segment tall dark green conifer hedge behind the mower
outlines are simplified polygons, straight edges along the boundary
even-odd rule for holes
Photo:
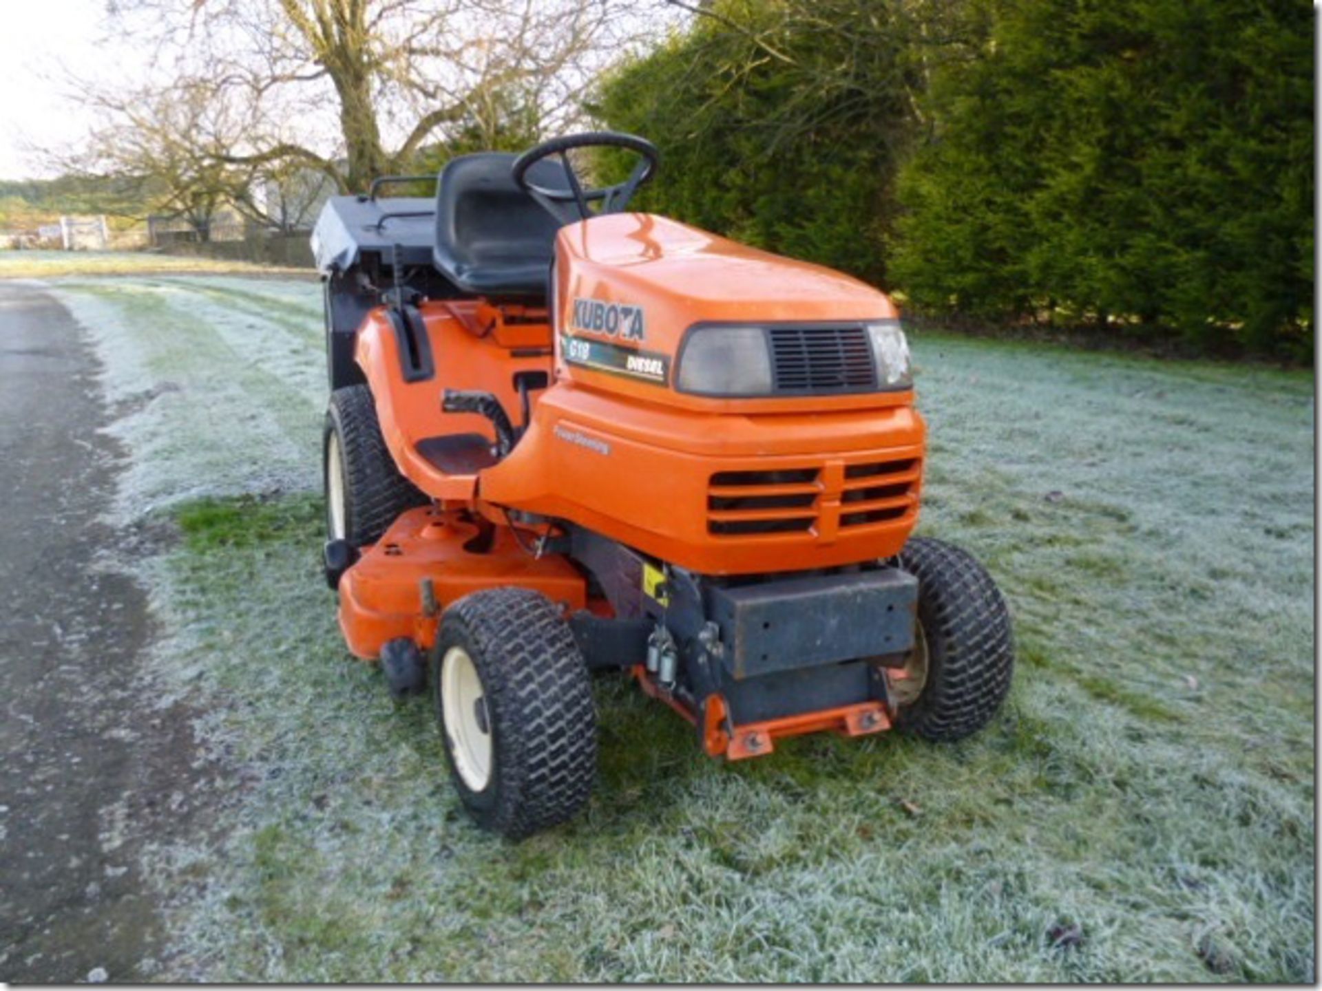
[[[648,209],[911,308],[1313,350],[1307,0],[715,0],[594,110]]]

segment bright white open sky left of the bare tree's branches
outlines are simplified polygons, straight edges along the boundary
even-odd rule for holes
[[[104,13],[106,0],[0,0],[0,178],[49,174],[26,147],[87,132],[90,115],[61,95],[63,71],[110,78],[136,54],[97,44]]]

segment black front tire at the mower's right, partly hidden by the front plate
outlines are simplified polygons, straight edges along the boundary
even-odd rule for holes
[[[919,581],[928,667],[921,694],[898,723],[924,740],[962,740],[992,720],[1010,691],[1010,612],[992,576],[958,547],[916,536],[904,544],[900,567]]]

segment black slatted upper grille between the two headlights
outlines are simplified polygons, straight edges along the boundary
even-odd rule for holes
[[[866,392],[876,387],[873,346],[862,326],[773,326],[777,392]]]

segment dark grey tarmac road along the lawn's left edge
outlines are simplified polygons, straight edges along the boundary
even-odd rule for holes
[[[152,629],[123,566],[151,535],[100,519],[124,459],[97,373],[38,283],[0,281],[5,982],[151,978],[161,925],[139,855],[202,822],[208,794],[186,710],[139,680]]]

